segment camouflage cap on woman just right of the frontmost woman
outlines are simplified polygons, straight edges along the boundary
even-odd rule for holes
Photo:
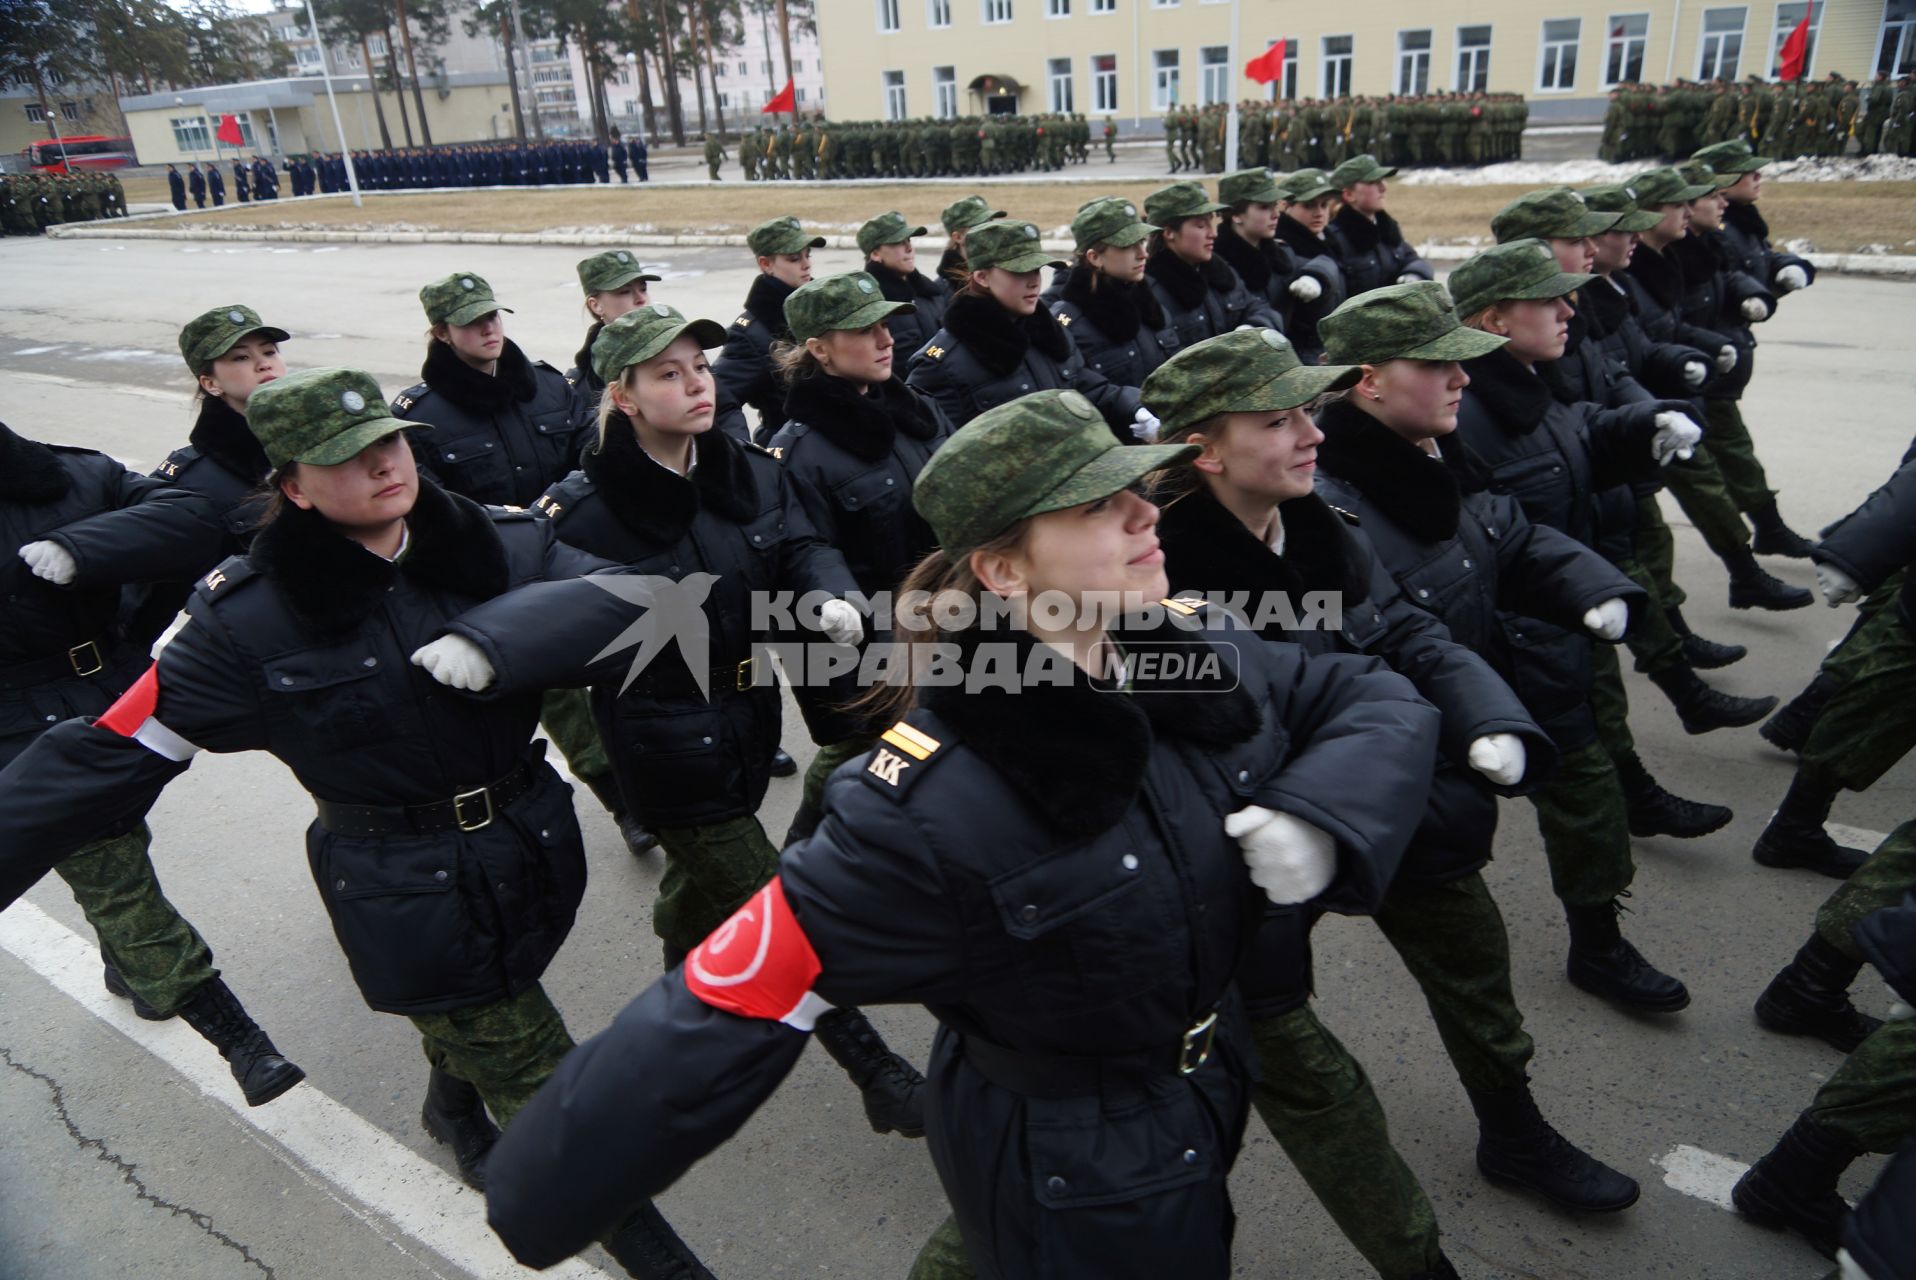
[[[1276,330],[1234,330],[1176,353],[1144,379],[1144,406],[1165,435],[1217,414],[1261,414],[1309,404],[1353,385],[1349,364],[1305,364]]]

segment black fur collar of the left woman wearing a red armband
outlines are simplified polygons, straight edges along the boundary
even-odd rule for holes
[[[305,625],[328,636],[370,617],[400,573],[469,600],[490,600],[510,584],[506,546],[492,517],[423,475],[399,563],[374,556],[318,512],[291,504],[259,531],[247,558]]]

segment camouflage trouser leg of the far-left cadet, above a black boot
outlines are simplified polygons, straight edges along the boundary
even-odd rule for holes
[[[220,975],[199,931],[159,889],[142,822],[125,835],[100,839],[63,858],[54,872],[73,889],[100,954],[155,1012],[172,1016],[201,985]]]

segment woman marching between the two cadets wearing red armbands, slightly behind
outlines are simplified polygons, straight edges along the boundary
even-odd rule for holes
[[[791,477],[766,450],[711,429],[705,349],[722,341],[711,320],[663,303],[605,326],[592,343],[605,379],[598,445],[535,508],[565,542],[680,583],[686,607],[703,611],[705,665],[661,653],[623,684],[592,690],[619,789],[665,849],[651,927],[667,968],[778,866],[757,816],[780,696],[755,648],[772,638],[755,596],[826,592],[832,642],[864,634],[843,600],[856,590],[845,558],[818,538]],[[924,1132],[918,1073],[856,1010],[826,1019],[820,1040],[858,1085],[878,1132]]]

